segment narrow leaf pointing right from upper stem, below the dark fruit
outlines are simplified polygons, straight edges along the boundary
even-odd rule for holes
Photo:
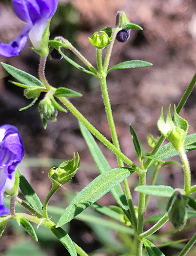
[[[141,67],[150,67],[152,65],[153,65],[152,63],[143,61],[143,60],[128,60],[128,61],[121,62],[116,66],[112,67],[111,69],[108,70],[107,74],[116,69],[141,68]]]

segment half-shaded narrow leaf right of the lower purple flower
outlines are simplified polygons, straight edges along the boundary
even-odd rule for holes
[[[19,178],[20,178],[20,189],[24,197],[26,198],[27,202],[29,205],[36,211],[38,212],[41,216],[43,216],[43,211],[42,211],[42,203],[29,184],[29,182],[26,180],[26,178],[22,175],[20,170],[18,169],[19,172]]]

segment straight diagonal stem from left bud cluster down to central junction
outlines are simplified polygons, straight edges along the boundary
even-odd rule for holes
[[[119,151],[107,138],[105,138],[99,131],[78,111],[78,109],[65,97],[59,97],[59,100],[69,109],[69,111],[80,121],[86,128],[98,138],[108,149],[115,155],[121,158],[126,164],[137,170],[138,166],[127,158],[121,151]]]

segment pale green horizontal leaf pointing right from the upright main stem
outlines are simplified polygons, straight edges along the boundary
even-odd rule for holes
[[[135,191],[157,197],[171,197],[174,194],[174,189],[172,187],[163,185],[137,186]]]

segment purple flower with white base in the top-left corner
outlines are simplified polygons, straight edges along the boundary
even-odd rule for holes
[[[0,55],[4,57],[18,56],[28,35],[34,48],[40,49],[43,33],[57,10],[58,0],[12,0],[12,4],[16,15],[26,24],[16,39],[9,43],[0,42]]]

